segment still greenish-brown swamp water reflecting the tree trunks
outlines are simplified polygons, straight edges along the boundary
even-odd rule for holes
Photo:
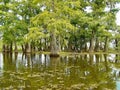
[[[0,53],[0,90],[120,90],[120,55]]]

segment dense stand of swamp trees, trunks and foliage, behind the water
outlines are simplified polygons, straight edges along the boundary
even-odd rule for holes
[[[3,52],[120,51],[120,0],[0,0]]]

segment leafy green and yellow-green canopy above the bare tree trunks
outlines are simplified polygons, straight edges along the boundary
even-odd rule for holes
[[[119,39],[115,7],[119,0],[3,0],[0,4],[0,33],[10,44],[37,43],[55,36],[56,45],[79,48],[90,39]],[[109,11],[105,11],[105,8]],[[91,12],[86,9],[90,8]],[[112,35],[109,30],[115,33]],[[117,32],[117,33],[116,33]],[[45,46],[45,45],[44,45]]]

